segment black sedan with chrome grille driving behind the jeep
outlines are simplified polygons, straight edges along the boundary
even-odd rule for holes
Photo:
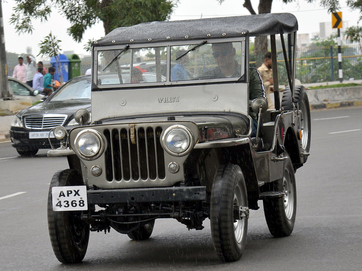
[[[51,149],[49,138],[54,147],[59,147],[51,130],[63,125],[69,132],[79,125],[74,113],[80,108],[90,111],[90,76],[73,78],[44,102],[18,112],[10,128],[11,145],[23,156]]]

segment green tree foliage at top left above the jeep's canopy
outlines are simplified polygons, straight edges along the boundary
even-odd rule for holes
[[[76,42],[85,30],[101,21],[105,34],[117,27],[142,22],[169,20],[177,1],[173,0],[15,0],[10,18],[18,33],[31,33],[32,20],[48,20],[51,12],[59,12],[71,23],[67,33]]]

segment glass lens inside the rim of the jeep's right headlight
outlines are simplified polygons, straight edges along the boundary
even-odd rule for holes
[[[165,143],[169,151],[180,154],[190,146],[190,136],[184,129],[173,129],[166,135]]]

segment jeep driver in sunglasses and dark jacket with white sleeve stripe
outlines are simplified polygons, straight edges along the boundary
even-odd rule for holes
[[[235,60],[235,55],[236,50],[231,42],[212,44],[212,56],[218,65],[213,70],[216,78],[240,77],[241,66]],[[266,98],[265,87],[259,71],[255,68],[249,68],[249,106],[251,106],[252,100],[258,97]],[[250,116],[253,120],[253,132],[251,136],[255,137],[257,115],[254,112],[250,112]]]

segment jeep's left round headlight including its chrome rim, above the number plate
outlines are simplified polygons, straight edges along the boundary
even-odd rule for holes
[[[102,155],[105,141],[102,135],[93,129],[80,132],[75,138],[75,152],[85,160],[94,160]]]

